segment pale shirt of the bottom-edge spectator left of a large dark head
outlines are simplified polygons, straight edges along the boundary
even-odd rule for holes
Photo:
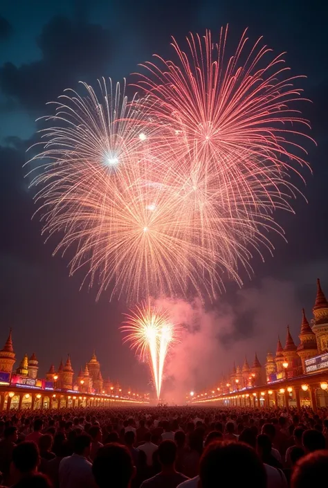
[[[60,462],[60,488],[95,488],[92,464],[84,456],[72,454]]]

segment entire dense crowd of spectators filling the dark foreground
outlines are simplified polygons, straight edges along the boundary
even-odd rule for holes
[[[314,488],[327,478],[327,447],[327,409],[10,410],[0,485]]]

